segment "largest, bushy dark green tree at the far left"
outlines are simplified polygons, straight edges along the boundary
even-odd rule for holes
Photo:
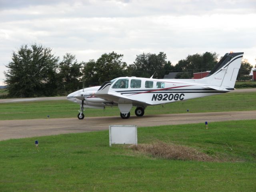
[[[12,53],[12,62],[4,72],[11,97],[52,96],[56,94],[58,57],[50,48],[22,45]]]

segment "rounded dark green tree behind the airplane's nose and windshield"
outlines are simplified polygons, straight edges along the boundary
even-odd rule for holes
[[[105,81],[120,76],[127,76],[127,64],[122,61],[122,54],[104,53],[98,60],[89,60],[83,69],[83,80],[86,86],[101,85]]]

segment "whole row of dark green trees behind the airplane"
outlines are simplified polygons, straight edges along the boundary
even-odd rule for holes
[[[56,96],[83,87],[101,85],[120,76],[163,78],[169,72],[180,72],[176,78],[192,78],[193,72],[211,70],[218,63],[218,55],[210,52],[188,55],[174,66],[166,54],[143,53],[136,55],[128,65],[122,54],[104,53],[97,60],[78,62],[76,56],[66,53],[63,59],[42,45],[22,45],[12,53],[12,61],[4,72],[10,97]],[[244,62],[242,74],[249,73],[251,65]],[[241,67],[242,68],[242,67]],[[249,69],[250,68],[250,69]],[[197,71],[199,70],[199,71]],[[184,73],[185,71],[185,73]]]

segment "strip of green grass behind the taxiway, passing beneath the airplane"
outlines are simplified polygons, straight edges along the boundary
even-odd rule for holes
[[[0,120],[36,119],[36,118],[68,118],[76,117],[79,104],[67,100],[37,101],[19,103],[0,103]],[[218,112],[256,110],[256,93],[228,93],[204,98],[196,98],[165,105],[148,106],[147,114],[171,114],[189,112]],[[131,115],[135,108],[132,108]],[[105,110],[86,108],[85,115],[91,116],[119,116],[117,107],[106,107]]]

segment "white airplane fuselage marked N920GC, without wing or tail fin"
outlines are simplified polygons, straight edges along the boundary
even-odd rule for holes
[[[125,86],[120,87],[119,82],[124,80]],[[112,80],[109,92],[115,92],[141,102],[132,102],[133,106],[158,105],[169,102],[187,100],[210,96],[220,93],[229,92],[234,88],[226,91],[214,90],[212,88],[202,88],[204,84],[196,83],[197,80],[188,80],[182,82],[177,79],[152,79],[152,78],[137,78],[137,77],[120,77]],[[117,106],[118,102],[98,98],[95,93],[100,86],[84,88],[68,95],[68,100],[80,102],[84,100],[84,107],[93,106]],[[143,104],[144,103],[144,104]]]

